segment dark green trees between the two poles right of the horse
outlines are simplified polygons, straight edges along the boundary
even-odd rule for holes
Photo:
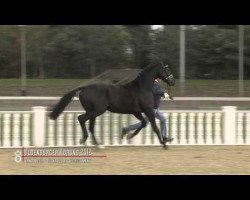
[[[187,76],[196,78],[237,78],[237,34],[207,26],[187,30]]]

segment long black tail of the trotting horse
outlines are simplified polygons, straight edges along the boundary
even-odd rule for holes
[[[76,92],[82,90],[84,87],[78,87],[74,90],[71,90],[67,94],[65,94],[60,101],[50,109],[51,113],[49,113],[49,118],[56,120],[57,117],[63,112],[66,106],[72,101],[73,97],[76,95]]]

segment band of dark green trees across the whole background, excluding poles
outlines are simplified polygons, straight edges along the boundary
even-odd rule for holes
[[[186,76],[238,78],[238,29],[186,26]],[[235,26],[235,25],[233,25]],[[179,75],[179,25],[25,26],[28,78],[89,78],[110,68],[143,68],[153,56]],[[245,79],[250,77],[250,26],[244,26]],[[0,26],[0,78],[20,77],[20,27]]]

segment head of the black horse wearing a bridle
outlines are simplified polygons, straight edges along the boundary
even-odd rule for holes
[[[158,68],[157,78],[160,78],[164,82],[166,82],[169,86],[175,85],[174,75],[172,74],[168,65],[160,65]]]

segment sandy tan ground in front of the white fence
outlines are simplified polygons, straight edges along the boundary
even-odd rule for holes
[[[15,162],[21,149],[0,149],[1,175],[250,174],[250,146],[106,147],[89,162]],[[32,158],[34,159],[34,158]],[[71,158],[72,159],[72,158]]]

